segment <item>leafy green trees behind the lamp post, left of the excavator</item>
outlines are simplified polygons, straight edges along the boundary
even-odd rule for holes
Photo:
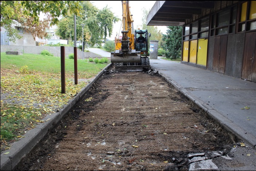
[[[82,10],[80,16],[76,17],[77,40],[82,42],[82,26],[84,25],[84,42],[94,46],[101,45],[102,39],[111,36],[113,23],[120,21],[113,15],[109,8],[102,10],[96,8],[90,1],[82,1]],[[69,14],[60,20],[56,34],[62,38],[74,40],[74,16]]]

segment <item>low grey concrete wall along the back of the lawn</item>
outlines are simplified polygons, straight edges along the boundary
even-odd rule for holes
[[[61,57],[61,46],[12,46],[12,45],[1,45],[0,52],[6,51],[21,51],[24,53],[40,54],[43,50],[47,50],[54,56]],[[69,57],[70,53],[74,53],[74,47],[65,46],[65,57]],[[82,59],[83,52],[77,49],[77,58]],[[97,58],[100,57],[98,54],[92,52],[84,52],[84,58]]]

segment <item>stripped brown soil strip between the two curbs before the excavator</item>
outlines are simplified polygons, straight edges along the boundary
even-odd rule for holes
[[[236,143],[158,74],[105,72],[18,169],[191,170]]]

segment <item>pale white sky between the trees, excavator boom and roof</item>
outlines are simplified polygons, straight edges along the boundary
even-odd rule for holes
[[[98,9],[102,9],[107,6],[116,17],[122,19],[122,3],[121,1],[90,1],[95,7]],[[133,15],[133,29],[138,29],[137,26],[142,25],[142,17],[143,17],[143,8],[150,11],[156,1],[129,1],[130,4],[130,12]],[[121,36],[121,30],[123,29],[121,26],[122,22],[114,23],[113,32],[111,37],[107,37],[110,40],[115,40],[116,33]],[[166,26],[157,26],[158,30],[162,33],[166,32]]]

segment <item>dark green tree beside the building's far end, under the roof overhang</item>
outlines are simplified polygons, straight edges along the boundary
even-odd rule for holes
[[[167,27],[167,58],[176,59],[181,57],[182,47],[182,27],[181,26],[168,26]]]

